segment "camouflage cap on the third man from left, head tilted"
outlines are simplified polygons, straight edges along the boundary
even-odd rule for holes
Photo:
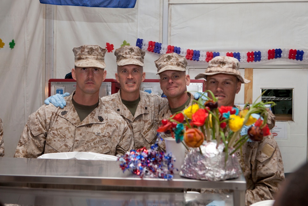
[[[154,62],[157,67],[157,74],[160,74],[167,70],[180,72],[186,71],[186,58],[177,53],[163,54]]]

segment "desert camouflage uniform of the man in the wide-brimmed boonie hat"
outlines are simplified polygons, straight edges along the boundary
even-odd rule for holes
[[[275,126],[275,115],[271,111],[267,123],[270,129]],[[246,142],[236,154],[247,182],[245,204],[274,200],[274,194],[284,181],[285,174],[281,153],[273,135],[264,137],[260,142]]]

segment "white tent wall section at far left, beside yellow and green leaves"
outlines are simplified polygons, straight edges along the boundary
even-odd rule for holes
[[[0,39],[5,43],[0,49],[0,118],[6,157],[13,157],[28,116],[42,105],[43,7],[32,0],[0,2]]]

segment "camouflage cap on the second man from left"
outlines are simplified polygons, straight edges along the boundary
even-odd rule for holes
[[[145,51],[139,47],[124,45],[115,49],[116,64],[118,66],[139,65],[144,66]]]

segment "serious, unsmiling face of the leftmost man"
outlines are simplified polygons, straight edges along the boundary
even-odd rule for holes
[[[76,80],[76,92],[83,94],[99,94],[99,88],[106,78],[107,72],[96,67],[75,67],[72,77]]]

